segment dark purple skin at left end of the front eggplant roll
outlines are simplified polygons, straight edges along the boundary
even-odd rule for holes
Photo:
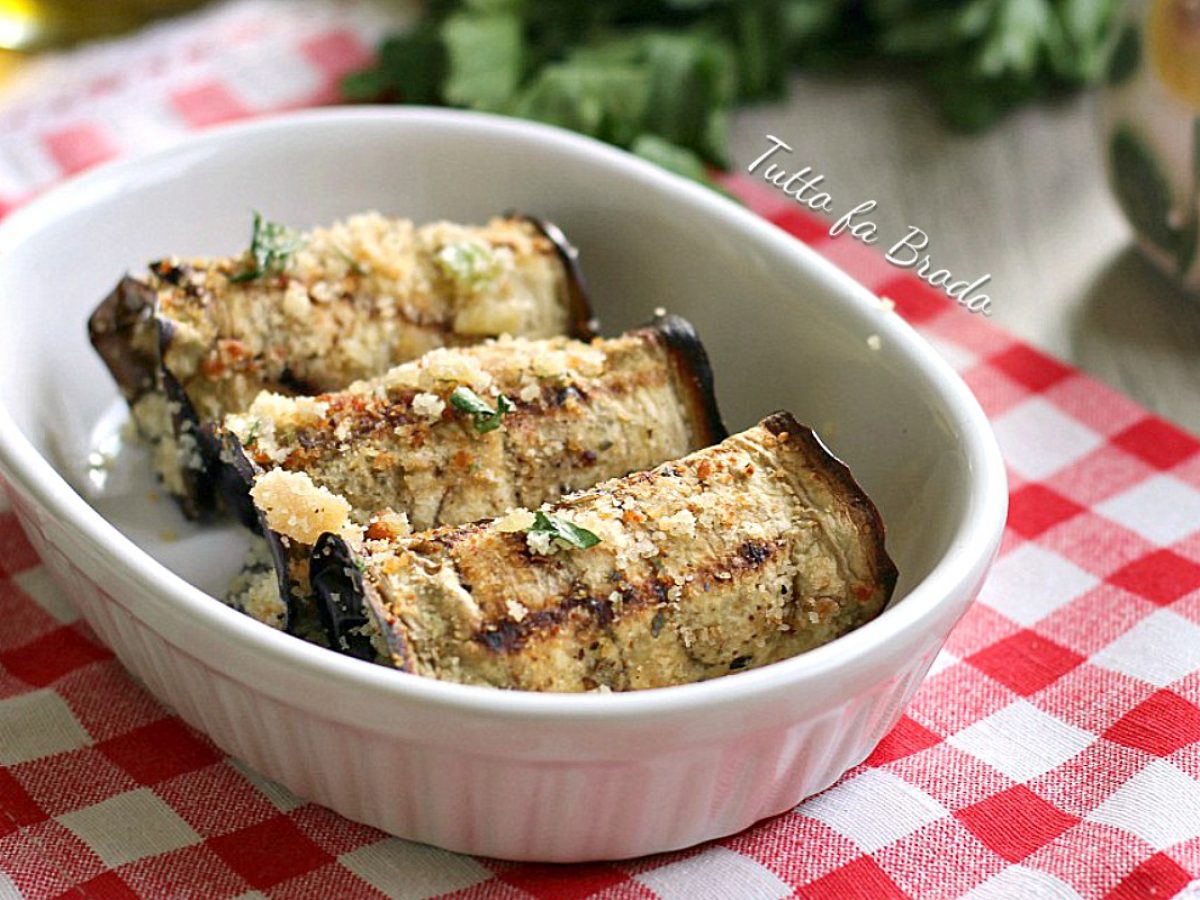
[[[374,647],[360,634],[368,616],[362,572],[338,535],[325,533],[317,539],[308,557],[308,581],[329,646],[347,656],[373,660]]]

